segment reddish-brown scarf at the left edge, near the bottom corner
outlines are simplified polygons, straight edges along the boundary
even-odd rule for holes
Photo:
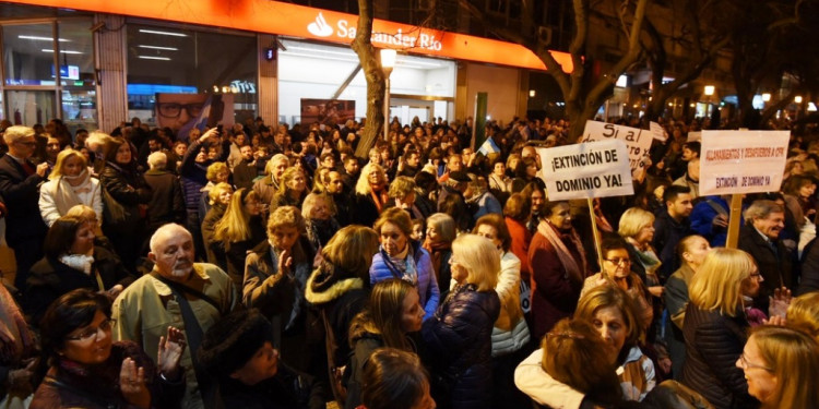
[[[34,348],[34,335],[5,286],[0,284],[0,362],[17,363]]]

